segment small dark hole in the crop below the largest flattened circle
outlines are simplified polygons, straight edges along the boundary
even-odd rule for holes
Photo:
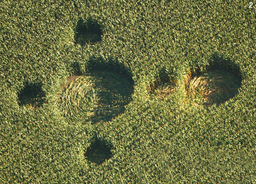
[[[99,140],[98,137],[96,137],[89,148],[87,148],[84,156],[89,163],[100,165],[113,156],[111,149],[112,145],[107,144],[106,141]]]

